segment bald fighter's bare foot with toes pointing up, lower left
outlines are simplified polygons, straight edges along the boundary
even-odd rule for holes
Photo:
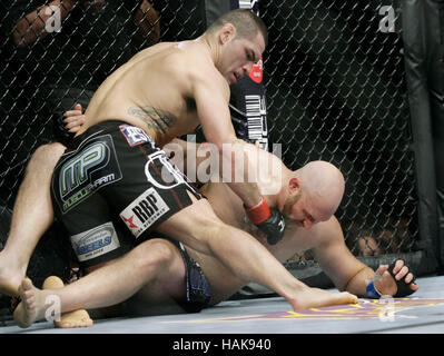
[[[26,328],[42,318],[45,304],[42,305],[42,298],[29,278],[24,278],[21,281],[19,296],[21,297],[21,303],[13,312],[13,318],[18,326]]]

